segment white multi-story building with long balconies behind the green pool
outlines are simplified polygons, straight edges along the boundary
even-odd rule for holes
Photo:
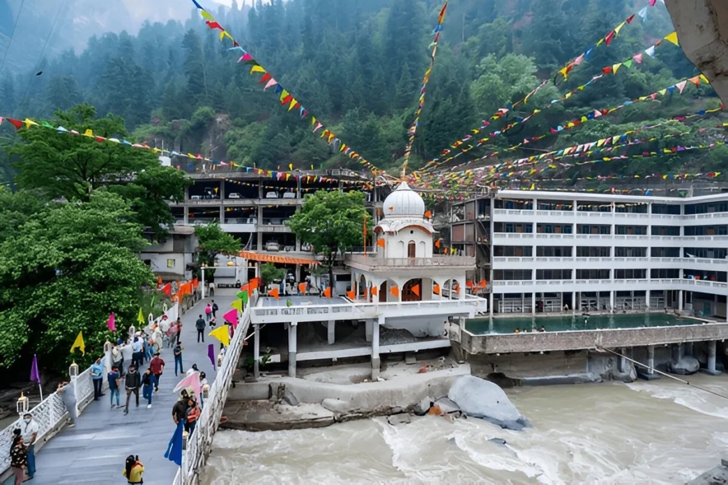
[[[728,193],[497,191],[454,205],[493,313],[692,308],[726,316]]]

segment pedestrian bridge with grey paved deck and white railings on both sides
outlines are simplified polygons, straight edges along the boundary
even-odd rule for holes
[[[233,300],[234,297],[215,297],[220,307],[218,321],[222,320],[222,313],[229,310]],[[254,295],[250,306],[255,304],[255,300]],[[210,300],[198,302],[194,308],[181,316],[184,369],[197,364],[199,370],[207,374],[207,380],[210,382],[210,395],[205,400],[197,428],[187,441],[182,467],[164,457],[167,444],[175,430],[171,410],[178,394],[173,392],[173,388],[182,376],[175,378],[172,349],[163,348],[161,354],[166,364],[165,372],[160,379],[159,393],[154,394],[152,399],[151,409],[147,409],[146,400],[141,398],[141,393],[138,408],[134,406],[132,395],[130,412],[126,416],[121,409],[111,409],[108,393],[99,401],[94,401],[90,369],[76,377],[79,417],[74,428],[67,426],[68,409],[57,393],[47,396],[31,409],[34,419],[40,425],[36,441],[37,470],[31,483],[57,485],[125,483],[122,470],[124,460],[130,454],[138,455],[146,468],[143,476],[145,484],[197,483],[197,473],[198,470],[202,470],[205,458],[210,452],[213,434],[218,428],[227,390],[232,382],[232,374],[250,324],[250,310],[246,308],[222,365],[216,370],[213,369],[213,363],[207,356],[207,345],[214,343],[216,354],[218,341],[206,335],[205,343],[197,343],[197,332],[194,328],[194,321],[197,320],[199,313],[202,313],[208,301]],[[178,307],[175,305],[167,311],[167,315],[174,320],[177,312]],[[209,329],[205,334],[208,332]],[[107,358],[106,361],[110,362],[111,359]],[[125,364],[129,361],[130,359],[124,359]],[[104,379],[104,388],[107,387]],[[123,391],[121,399],[123,405],[125,399]],[[18,427],[19,421],[16,421],[0,432],[1,484],[12,484],[12,478],[9,478],[8,452],[12,441],[12,430]]]

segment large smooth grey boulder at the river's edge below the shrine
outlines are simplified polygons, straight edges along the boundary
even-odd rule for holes
[[[448,392],[448,398],[468,416],[488,420],[501,428],[521,430],[529,426],[528,420],[493,382],[472,375],[458,377]]]

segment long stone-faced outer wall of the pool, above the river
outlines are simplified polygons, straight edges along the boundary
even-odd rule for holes
[[[666,343],[723,340],[728,324],[657,326],[641,329],[585,330],[583,332],[539,332],[507,335],[473,335],[462,331],[460,341],[467,353],[513,353],[548,350],[583,350]]]

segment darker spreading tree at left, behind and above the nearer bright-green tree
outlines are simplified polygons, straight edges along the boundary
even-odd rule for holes
[[[58,111],[54,126],[94,135],[123,138],[124,121],[116,116],[95,119],[95,109],[78,105]],[[157,155],[121,143],[99,143],[94,137],[71,136],[50,129],[20,129],[23,143],[12,153],[18,156],[16,183],[20,188],[42,191],[50,199],[90,201],[92,193],[106,187],[130,201],[135,221],[164,233],[174,223],[167,201],[183,199],[183,173],[161,167]]]

